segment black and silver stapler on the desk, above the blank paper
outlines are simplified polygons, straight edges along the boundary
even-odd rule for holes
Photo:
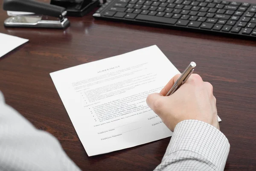
[[[4,21],[6,27],[65,29],[70,25],[65,17],[67,14],[65,8],[35,0],[3,0],[3,10],[12,14],[12,17]]]

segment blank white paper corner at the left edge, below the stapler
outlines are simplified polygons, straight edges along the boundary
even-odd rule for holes
[[[0,33],[0,58],[27,41],[29,40]]]

